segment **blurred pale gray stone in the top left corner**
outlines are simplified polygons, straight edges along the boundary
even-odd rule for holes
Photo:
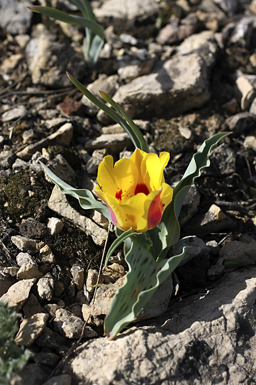
[[[13,35],[26,33],[30,28],[32,12],[27,7],[30,2],[17,0],[0,1],[0,27]]]

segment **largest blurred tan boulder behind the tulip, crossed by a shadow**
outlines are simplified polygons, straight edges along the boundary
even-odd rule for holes
[[[203,44],[195,42],[195,52],[193,45],[191,47],[193,42],[186,39],[179,54],[158,62],[150,74],[121,86],[113,97],[115,102],[132,118],[152,113],[170,117],[202,107],[209,100],[209,71],[215,63],[217,50],[212,34],[206,37]],[[97,118],[103,124],[110,122],[101,111]]]

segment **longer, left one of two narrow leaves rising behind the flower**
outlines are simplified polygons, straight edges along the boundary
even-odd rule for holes
[[[67,72],[69,79],[71,82],[76,86],[76,88],[79,89],[93,104],[95,104],[97,107],[102,109],[106,114],[109,115],[115,122],[120,124],[120,126],[124,129],[127,134],[129,134],[133,144],[135,147],[138,147],[139,149],[142,150],[141,147],[144,148],[144,145],[140,142],[139,138],[137,137],[136,132],[134,132],[134,129],[124,120],[119,113],[114,111],[112,108],[109,106],[106,106],[103,102],[98,100],[86,87],[84,87],[78,80],[74,78],[69,72]],[[144,138],[143,138],[144,140]]]

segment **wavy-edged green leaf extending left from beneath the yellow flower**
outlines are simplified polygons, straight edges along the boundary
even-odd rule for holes
[[[90,190],[76,189],[70,186],[68,183],[63,182],[59,177],[57,177],[44,163],[40,162],[40,164],[51,181],[59,187],[62,194],[71,195],[79,200],[82,208],[96,210],[111,221],[109,208],[101,201],[95,199]]]

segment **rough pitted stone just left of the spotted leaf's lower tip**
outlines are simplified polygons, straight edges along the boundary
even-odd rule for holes
[[[58,309],[55,313],[54,328],[67,338],[79,338],[84,322],[81,318],[66,309]],[[98,334],[90,327],[84,328],[83,337],[96,337]]]

